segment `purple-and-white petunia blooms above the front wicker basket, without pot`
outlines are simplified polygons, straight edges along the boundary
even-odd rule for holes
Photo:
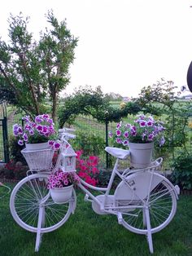
[[[13,135],[18,139],[20,146],[24,143],[43,143],[49,142],[52,148],[58,149],[60,144],[53,140],[55,135],[55,125],[48,114],[38,115],[34,121],[26,116],[22,118],[23,126],[15,124]]]

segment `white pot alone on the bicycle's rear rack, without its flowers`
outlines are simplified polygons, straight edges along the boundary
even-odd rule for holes
[[[129,143],[130,165],[134,168],[146,168],[152,161],[154,142]]]

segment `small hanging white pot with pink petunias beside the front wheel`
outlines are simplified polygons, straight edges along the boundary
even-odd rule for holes
[[[57,204],[66,203],[72,197],[73,185],[80,182],[75,171],[63,172],[61,169],[50,174],[47,188],[50,189],[50,196]]]

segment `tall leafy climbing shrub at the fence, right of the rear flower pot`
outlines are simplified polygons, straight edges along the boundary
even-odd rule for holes
[[[160,113],[164,117],[165,144],[163,148],[156,148],[156,157],[164,156],[172,159],[175,157],[177,148],[183,148],[185,151],[188,135],[185,132],[191,115],[192,103],[181,103],[175,93],[177,89],[172,81],[161,81],[147,86],[137,99],[137,104],[142,108],[151,109],[151,113]]]

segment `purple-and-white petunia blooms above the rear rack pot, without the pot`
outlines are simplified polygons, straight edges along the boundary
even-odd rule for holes
[[[138,115],[133,124],[124,124],[122,121],[117,123],[116,131],[109,132],[109,137],[123,146],[130,143],[151,143],[157,141],[162,146],[164,140],[164,126],[162,121],[155,121],[152,116]]]

